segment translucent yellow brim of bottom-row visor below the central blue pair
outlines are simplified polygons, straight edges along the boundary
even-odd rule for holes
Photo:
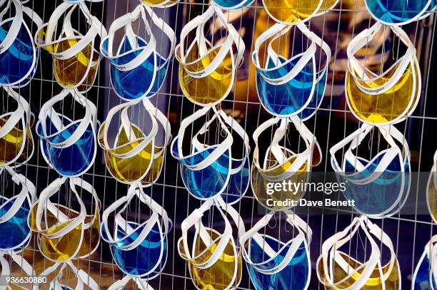
[[[218,235],[211,230],[208,230],[211,237],[215,239]],[[203,244],[203,245],[202,245]],[[242,261],[241,252],[237,249],[237,255],[233,252],[233,245],[230,242],[226,245],[226,248],[221,254],[220,258],[212,266],[206,269],[199,269],[193,264],[189,263],[189,271],[191,273],[191,279],[199,289],[207,290],[219,290],[226,289],[230,285],[236,286],[241,279]],[[194,246],[194,254],[201,254],[204,249],[204,242],[200,237],[196,239]],[[214,247],[211,247],[213,249]],[[237,273],[235,273],[237,263]],[[233,280],[233,276],[236,274],[236,279]]]

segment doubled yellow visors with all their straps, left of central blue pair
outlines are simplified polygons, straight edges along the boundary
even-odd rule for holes
[[[166,116],[148,99],[143,100],[144,110],[137,106],[139,102],[123,103],[109,110],[99,129],[99,145],[104,149],[106,168],[116,180],[123,183],[141,182],[143,186],[149,186],[156,182],[161,173],[166,146],[171,140],[171,128]],[[141,120],[149,119],[142,124],[149,128],[135,123],[139,120],[134,117],[138,113],[141,114]],[[120,127],[113,128],[115,115],[120,120],[116,125],[120,124]],[[161,131],[164,131],[164,138]],[[111,134],[114,132],[115,136]],[[159,144],[159,138],[164,140],[161,142],[163,144]]]

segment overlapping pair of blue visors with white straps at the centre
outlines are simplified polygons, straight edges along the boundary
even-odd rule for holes
[[[193,135],[189,155],[183,150],[186,128],[206,115],[210,108],[197,110],[182,121],[179,133],[171,143],[171,155],[179,160],[182,180],[191,195],[199,200],[209,200],[222,195],[223,200],[233,204],[246,193],[250,180],[248,136],[236,120],[228,117],[222,110],[216,111],[214,107],[213,109],[214,115],[211,119]],[[209,127],[214,120],[218,121],[218,130],[224,134],[222,140],[214,145],[201,143],[206,141]],[[238,134],[243,140],[241,158],[234,157],[231,153],[231,132]]]

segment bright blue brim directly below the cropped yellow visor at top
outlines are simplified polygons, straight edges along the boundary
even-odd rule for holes
[[[258,98],[263,107],[271,114],[279,117],[296,115],[305,109],[313,99],[316,76],[314,58],[310,58],[305,67],[287,83],[273,85],[264,78],[283,78],[289,73],[298,58],[286,61],[286,58],[279,57],[281,63],[274,63],[268,58],[267,69],[256,68],[256,90]]]

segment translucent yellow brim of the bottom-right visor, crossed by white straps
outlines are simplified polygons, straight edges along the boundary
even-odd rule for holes
[[[361,266],[361,262],[356,261],[356,259],[353,259],[351,257],[348,257],[348,255],[344,254],[343,252],[338,252],[338,254],[343,257],[343,259],[351,266],[351,270],[349,273],[346,273],[341,266],[339,266],[335,261],[333,261],[333,282],[334,284],[338,283],[338,281],[341,281],[341,283],[338,283],[336,286],[325,286],[325,289],[348,289],[353,283],[356,282],[357,279],[361,276],[361,273],[363,272],[364,267],[361,267],[358,271],[354,272],[348,279],[344,280],[346,276],[352,273],[353,269],[357,269],[359,266]],[[387,274],[390,267],[389,263],[384,265],[382,267],[382,273]],[[320,274],[321,279],[325,278],[326,274],[323,270],[323,263],[320,263],[318,266],[318,272]],[[381,273],[379,271],[379,268],[376,267],[373,269],[371,276],[366,281],[366,285],[361,287],[361,289],[367,289],[367,290],[380,290],[383,289],[382,283],[385,284],[386,290],[398,290],[399,288],[399,269],[398,269],[398,263],[395,261],[393,264],[393,268],[391,269],[390,274],[388,275],[388,279],[386,281],[383,281],[381,279]],[[343,281],[344,280],[344,281]],[[327,281],[325,281],[327,283]]]

